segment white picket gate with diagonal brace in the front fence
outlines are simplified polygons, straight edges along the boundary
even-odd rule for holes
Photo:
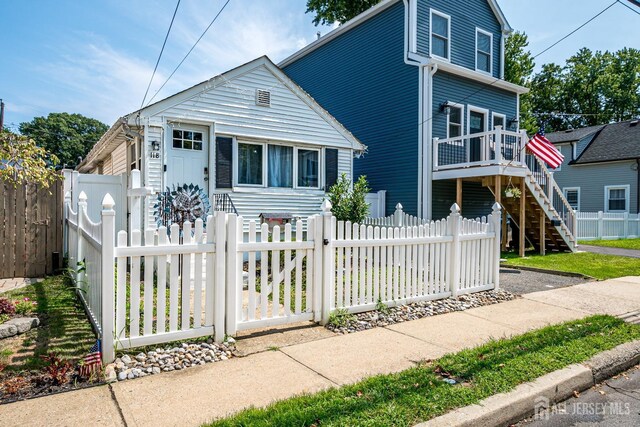
[[[272,230],[250,221],[244,242],[242,217],[228,217],[227,252],[237,255],[227,258],[227,333],[319,321],[322,218],[310,217],[306,230],[300,220]]]

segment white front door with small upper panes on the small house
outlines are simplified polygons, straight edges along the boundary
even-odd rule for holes
[[[165,185],[194,184],[208,193],[209,129],[206,126],[170,125]]]

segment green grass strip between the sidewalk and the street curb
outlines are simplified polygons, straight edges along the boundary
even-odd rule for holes
[[[413,425],[638,338],[636,325],[592,316],[492,341],[397,374],[247,409],[210,425]],[[444,377],[456,384],[444,382]]]

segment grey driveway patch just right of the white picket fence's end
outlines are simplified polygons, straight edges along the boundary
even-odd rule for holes
[[[531,292],[548,291],[587,282],[582,277],[560,276],[538,273],[537,271],[500,268],[500,287],[513,294],[522,295]]]

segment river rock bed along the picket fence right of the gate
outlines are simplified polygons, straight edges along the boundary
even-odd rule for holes
[[[350,334],[377,326],[388,326],[408,320],[451,313],[453,311],[464,311],[484,305],[511,301],[516,298],[519,297],[503,289],[477,292],[474,294],[460,295],[456,298],[420,301],[408,305],[387,308],[382,311],[374,310],[351,316],[343,315],[342,319],[340,319],[341,321],[336,322],[340,323],[340,325],[336,325],[330,321],[327,323],[326,328],[339,334]]]

